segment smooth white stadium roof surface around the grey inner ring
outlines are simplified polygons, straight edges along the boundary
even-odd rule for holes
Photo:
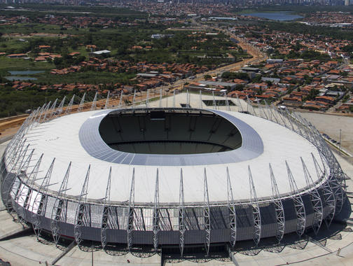
[[[85,175],[90,165],[88,195],[91,200],[104,198],[109,168],[112,168],[111,201],[126,202],[130,196],[132,172],[135,172],[135,204],[154,202],[155,177],[159,169],[160,204],[164,202],[179,204],[179,182],[181,166],[128,165],[116,164],[92,157],[81,145],[79,131],[83,123],[102,111],[88,111],[63,116],[42,123],[27,133],[27,140],[35,148],[34,162],[43,153],[40,173],[48,170],[55,158],[50,190],[57,191],[64,174],[72,162],[67,191],[68,195],[81,194]],[[319,161],[319,153],[309,141],[295,132],[269,120],[245,113],[224,111],[247,123],[261,137],[263,153],[251,160],[229,162],[227,164],[182,166],[184,176],[184,197],[186,203],[203,202],[204,168],[207,170],[207,183],[210,202],[226,202],[226,167],[229,168],[230,181],[235,200],[250,197],[248,165],[251,167],[257,197],[272,195],[269,163],[276,177],[279,193],[291,193],[285,161],[288,162],[298,189],[305,188],[305,176],[300,157],[303,158],[312,179],[317,181],[312,155]],[[104,115],[102,115],[104,116]],[[242,132],[241,132],[242,133]],[[94,148],[94,147],[93,147]]]

